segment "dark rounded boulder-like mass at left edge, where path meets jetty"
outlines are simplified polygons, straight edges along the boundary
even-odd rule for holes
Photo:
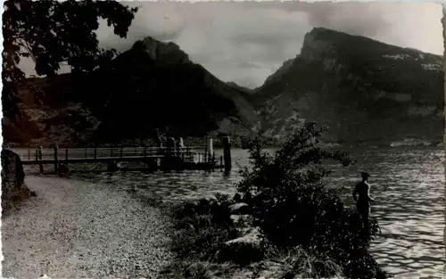
[[[25,172],[21,164],[21,158],[16,153],[3,149],[2,156],[2,207],[8,208],[13,201],[22,201],[31,195],[25,185]]]

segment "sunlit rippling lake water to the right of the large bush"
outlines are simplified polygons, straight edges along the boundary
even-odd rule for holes
[[[375,150],[352,156],[359,161],[356,168],[373,175],[371,195],[376,202],[372,215],[378,218],[383,233],[371,249],[378,262],[393,274],[421,271],[423,275],[442,277],[443,152]],[[357,178],[358,172],[351,169],[337,170],[332,179],[335,185]]]

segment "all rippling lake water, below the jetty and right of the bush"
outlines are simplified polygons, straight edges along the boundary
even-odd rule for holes
[[[384,269],[394,275],[442,276],[444,265],[444,173],[443,152],[436,149],[350,150],[358,161],[351,168],[332,166],[329,185],[342,189],[352,204],[351,188],[359,170],[367,170],[376,199],[372,215],[378,218],[383,235],[372,244],[372,252]],[[211,193],[235,193],[240,181],[238,166],[248,164],[247,152],[233,150],[234,168],[228,176],[219,170],[170,173],[118,172],[96,179],[118,191],[136,188],[145,196],[164,201],[202,197]]]

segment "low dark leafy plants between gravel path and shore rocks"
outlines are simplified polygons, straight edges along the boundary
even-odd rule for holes
[[[176,258],[164,268],[161,278],[212,278],[211,269],[232,269],[219,261],[219,251],[228,240],[239,236],[230,218],[230,199],[185,201],[166,208],[172,220],[170,249]]]

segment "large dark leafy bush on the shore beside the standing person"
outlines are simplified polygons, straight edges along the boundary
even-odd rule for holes
[[[244,169],[238,191],[252,207],[254,225],[277,247],[301,246],[324,254],[340,264],[347,277],[375,277],[381,271],[368,245],[379,227],[372,218],[365,231],[359,214],[325,188],[322,178],[329,171],[322,167],[324,160],[353,163],[345,152],[318,146],[325,130],[305,124],[274,156],[262,151],[260,140],[244,140],[252,169]]]

